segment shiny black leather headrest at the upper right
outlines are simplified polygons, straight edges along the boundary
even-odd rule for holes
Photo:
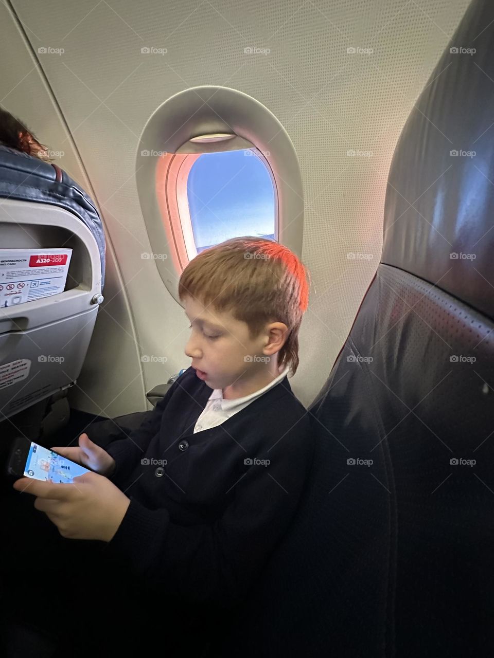
[[[494,318],[494,3],[474,0],[395,149],[381,261]]]

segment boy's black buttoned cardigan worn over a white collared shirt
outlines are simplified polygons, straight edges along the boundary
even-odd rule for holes
[[[188,368],[149,420],[107,447],[117,465],[111,480],[130,505],[105,551],[116,551],[146,588],[229,607],[244,599],[287,530],[313,440],[287,377],[194,434],[209,395]]]

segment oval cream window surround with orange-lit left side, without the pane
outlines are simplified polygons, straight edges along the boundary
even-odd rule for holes
[[[225,137],[207,139],[213,135]],[[200,141],[190,141],[194,138]],[[196,157],[175,154],[199,157],[246,148],[260,151],[273,176],[279,242],[301,257],[304,203],[298,159],[285,128],[259,101],[226,87],[186,89],[165,101],[142,132],[136,154],[140,206],[155,266],[179,304],[178,278],[188,263],[191,245],[187,250],[190,236],[184,235],[180,219],[179,205],[186,195],[177,190],[186,185]],[[185,212],[188,209],[182,208]]]

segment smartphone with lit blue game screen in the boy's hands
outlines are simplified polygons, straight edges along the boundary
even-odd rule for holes
[[[72,484],[73,478],[90,472],[89,468],[84,468],[22,436],[14,441],[7,470],[10,475],[18,478],[24,475],[35,480],[51,480],[65,484]]]

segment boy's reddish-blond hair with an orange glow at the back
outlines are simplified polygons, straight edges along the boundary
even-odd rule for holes
[[[198,299],[248,324],[250,338],[267,322],[283,322],[288,338],[279,365],[298,367],[298,330],[308,307],[310,272],[290,249],[273,240],[231,238],[198,254],[184,269],[178,297]]]

